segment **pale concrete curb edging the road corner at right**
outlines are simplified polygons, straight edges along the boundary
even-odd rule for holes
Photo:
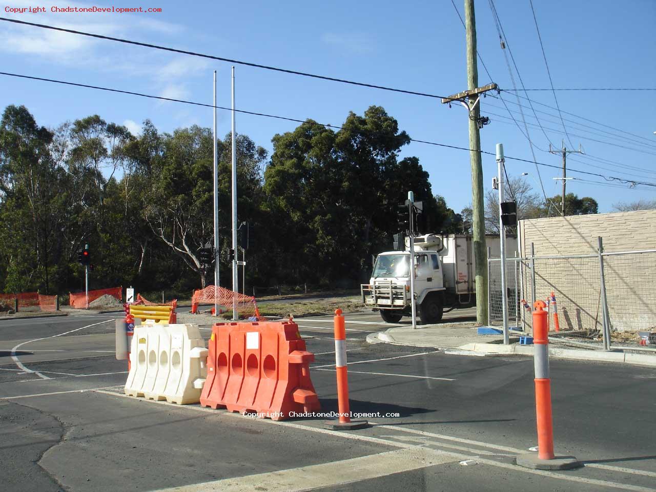
[[[370,344],[389,343],[393,345],[405,345],[411,347],[432,347],[441,348],[443,350],[461,350],[463,352],[472,352],[472,355],[484,354],[489,356],[533,356],[534,353],[533,346],[518,344],[502,345],[496,343],[468,343],[459,347],[445,347],[440,345],[438,342],[414,344],[400,341],[390,333],[386,333],[386,331],[369,333],[369,335],[367,335],[367,342]],[[577,350],[550,346],[549,356],[554,359],[589,360],[598,362],[623,363],[629,365],[642,365],[645,367],[656,367],[656,354],[652,356],[647,354],[602,352],[599,350]]]

